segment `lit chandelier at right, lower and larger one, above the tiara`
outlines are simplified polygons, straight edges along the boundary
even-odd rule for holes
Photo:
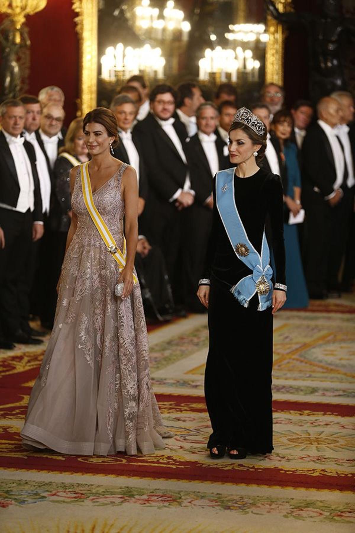
[[[245,72],[248,81],[257,81],[259,78],[260,61],[253,58],[251,50],[243,50],[238,46],[233,49],[222,49],[217,46],[214,50],[210,48],[204,51],[204,57],[199,61],[199,79],[208,81],[210,76],[215,76],[218,83],[235,83],[238,73]]]

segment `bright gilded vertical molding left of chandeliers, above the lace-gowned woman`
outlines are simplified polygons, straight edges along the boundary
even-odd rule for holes
[[[98,0],[72,0],[79,35],[78,116],[84,116],[97,102],[97,18]]]

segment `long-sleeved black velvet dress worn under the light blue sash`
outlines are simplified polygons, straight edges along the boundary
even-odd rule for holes
[[[279,176],[264,169],[250,177],[234,175],[235,202],[249,240],[261,252],[267,216],[270,219],[276,264],[273,283],[285,285],[283,190]],[[205,370],[205,398],[213,433],[208,448],[224,444],[249,453],[273,450],[271,371],[273,315],[258,311],[255,294],[244,308],[230,288],[251,270],[238,259],[216,207],[213,184],[212,231],[205,278],[211,280],[208,325],[210,345]]]

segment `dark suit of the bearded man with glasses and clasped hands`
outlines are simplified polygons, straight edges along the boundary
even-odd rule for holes
[[[184,150],[186,129],[177,118],[174,129]],[[181,212],[175,207],[175,201],[169,200],[178,189],[183,189],[188,166],[151,113],[135,126],[134,133],[135,139],[141,143],[147,169],[149,185],[146,203],[146,217],[149,221],[147,237],[152,244],[161,248],[172,286],[177,289],[176,293],[181,294],[179,287],[181,269],[177,261],[181,239]]]

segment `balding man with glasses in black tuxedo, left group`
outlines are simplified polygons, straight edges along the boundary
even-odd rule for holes
[[[58,103],[49,102],[42,110],[40,118],[40,128],[36,130],[36,140],[42,150],[47,164],[48,173],[51,176],[53,184],[53,167],[59,155],[60,148],[64,145],[64,139],[61,134],[65,113],[62,106]],[[55,277],[56,269],[53,268],[52,257],[55,257],[54,247],[55,231],[57,230],[59,220],[62,215],[62,209],[59,205],[59,199],[56,197],[53,187],[51,193],[51,205],[49,216],[45,219],[45,235],[43,243],[40,246],[40,270],[35,279],[34,297],[38,298],[39,317],[43,327],[52,329],[57,294],[54,289],[56,286]]]

